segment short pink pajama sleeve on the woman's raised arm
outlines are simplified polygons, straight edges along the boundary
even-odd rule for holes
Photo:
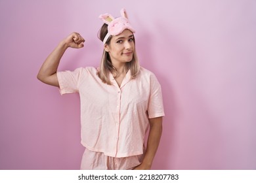
[[[75,71],[57,72],[58,83],[60,85],[60,94],[78,92],[79,80],[83,68],[75,69]]]

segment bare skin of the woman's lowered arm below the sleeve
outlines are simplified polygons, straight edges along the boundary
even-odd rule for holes
[[[151,118],[146,152],[142,163],[134,170],[150,170],[161,139],[163,117]]]

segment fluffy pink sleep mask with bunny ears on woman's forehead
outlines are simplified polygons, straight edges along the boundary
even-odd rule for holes
[[[127,13],[125,8],[120,10],[121,16],[118,18],[114,18],[111,14],[100,14],[98,18],[100,18],[105,24],[108,24],[108,33],[104,37],[103,44],[106,43],[110,35],[119,35],[125,29],[129,29],[133,33],[135,33],[135,29],[131,26],[131,23],[128,20]]]

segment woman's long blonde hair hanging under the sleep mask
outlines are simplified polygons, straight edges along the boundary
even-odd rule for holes
[[[107,24],[103,24],[98,38],[103,41],[104,37],[106,36],[106,34],[108,33],[108,25]],[[106,44],[110,44],[110,41],[112,39],[112,36],[110,35],[110,37],[108,38],[108,40],[106,41]],[[134,39],[134,43],[135,43],[135,39]],[[131,79],[136,78],[136,76],[139,73],[140,70],[140,65],[139,65],[139,61],[137,58],[137,53],[136,50],[134,50],[133,52],[133,59],[131,59],[131,61],[125,63],[125,72],[127,73],[127,71],[131,71]],[[102,80],[102,82],[112,85],[112,82],[110,80],[109,77],[109,73],[116,73],[116,76],[118,76],[117,70],[116,68],[112,65],[112,61],[110,59],[110,55],[108,54],[108,52],[106,52],[105,50],[103,50],[103,54],[102,54],[102,59],[100,61],[100,68],[98,70],[98,77]]]

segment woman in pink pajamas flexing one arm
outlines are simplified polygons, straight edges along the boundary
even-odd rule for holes
[[[100,15],[104,53],[100,67],[57,72],[67,48],[83,48],[85,40],[72,33],[43,63],[37,78],[60,93],[79,92],[81,169],[150,169],[162,131],[163,102],[156,76],[139,66],[135,33],[124,9],[121,17]],[[150,127],[148,141],[144,136]]]

